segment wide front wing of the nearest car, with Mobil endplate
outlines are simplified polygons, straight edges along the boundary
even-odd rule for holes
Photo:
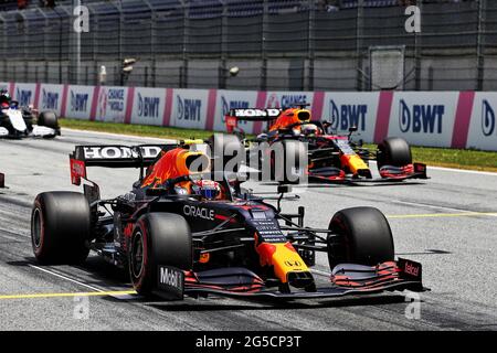
[[[394,290],[426,290],[422,285],[421,264],[402,258],[378,266],[341,264],[334,268],[329,279],[331,285],[328,287],[318,287],[313,291],[295,289],[287,292],[272,288],[268,282],[246,268],[230,267],[193,272],[159,266],[156,293],[169,300],[209,295],[289,300],[362,296]]]

